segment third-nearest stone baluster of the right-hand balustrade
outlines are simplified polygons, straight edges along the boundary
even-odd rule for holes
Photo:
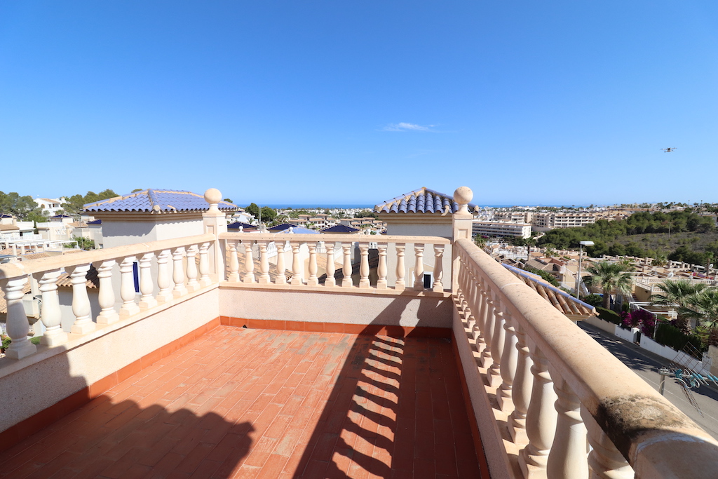
[[[528,340],[528,336],[526,338]],[[529,351],[533,361],[531,367],[533,386],[531,386],[531,402],[528,403],[526,411],[528,445],[521,451],[518,463],[524,478],[546,479],[546,462],[554,442],[558,417],[554,407],[556,392],[546,357],[532,341],[529,341]],[[584,455],[585,453],[584,446]]]

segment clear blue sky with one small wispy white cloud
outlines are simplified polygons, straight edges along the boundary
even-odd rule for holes
[[[717,87],[714,0],[5,1],[0,190],[718,202]]]

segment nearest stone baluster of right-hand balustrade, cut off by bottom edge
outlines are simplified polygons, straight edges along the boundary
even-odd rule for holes
[[[635,473],[618,452],[596,419],[581,406],[581,417],[588,431],[588,442],[592,447],[588,455],[590,479],[633,479]]]

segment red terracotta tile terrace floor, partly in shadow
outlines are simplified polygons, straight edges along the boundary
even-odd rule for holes
[[[0,454],[0,477],[480,473],[449,340],[220,326]]]

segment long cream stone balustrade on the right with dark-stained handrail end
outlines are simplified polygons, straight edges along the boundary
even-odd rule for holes
[[[472,241],[454,242],[454,258],[460,314],[524,477],[715,477],[718,442],[691,419]]]

